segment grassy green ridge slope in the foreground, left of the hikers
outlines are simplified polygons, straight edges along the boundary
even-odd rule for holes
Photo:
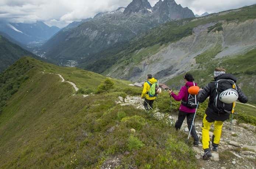
[[[50,73],[83,90],[74,95],[73,86]],[[80,94],[97,93],[105,79],[28,57],[2,72],[0,168],[101,168],[117,158],[119,168],[199,168],[186,134],[115,103],[141,88],[111,79],[114,86],[106,92]]]

